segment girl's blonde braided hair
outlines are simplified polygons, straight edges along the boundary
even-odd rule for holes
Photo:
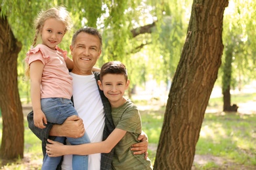
[[[33,39],[32,46],[34,46],[36,44],[37,37],[38,37],[39,33],[41,33],[41,31],[42,31],[43,25],[45,25],[45,21],[49,18],[54,18],[56,20],[63,22],[64,25],[66,26],[65,33],[66,33],[66,31],[70,30],[72,27],[70,14],[69,14],[68,10],[66,10],[65,7],[53,7],[51,9],[48,9],[45,11],[41,10],[41,12],[39,12],[37,18],[35,19],[35,23],[34,23],[35,37]]]

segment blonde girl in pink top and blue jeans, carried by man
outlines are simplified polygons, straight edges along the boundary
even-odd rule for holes
[[[64,7],[54,7],[39,13],[35,20],[35,38],[32,48],[26,54],[30,75],[33,120],[35,126],[45,128],[48,122],[62,124],[66,118],[78,115],[70,100],[72,97],[72,76],[68,69],[73,68],[72,59],[67,52],[58,48],[66,31],[71,28],[70,16]],[[33,46],[41,37],[41,44]],[[67,68],[68,67],[68,68]],[[67,138],[71,144],[90,143],[89,137]],[[65,137],[56,137],[55,141],[64,143]],[[60,157],[45,155],[42,170],[56,169]],[[87,169],[88,156],[73,156],[73,169]]]

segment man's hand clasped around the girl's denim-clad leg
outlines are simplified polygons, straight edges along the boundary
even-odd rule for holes
[[[83,120],[78,116],[70,116],[65,122],[58,126],[58,133],[63,137],[82,137],[85,134]]]

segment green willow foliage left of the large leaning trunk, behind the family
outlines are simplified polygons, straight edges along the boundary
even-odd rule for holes
[[[29,102],[30,99],[29,81],[24,76],[24,58],[32,44],[33,20],[39,10],[61,5],[70,11],[74,29],[64,36],[60,44],[60,48],[68,52],[72,33],[76,29],[83,26],[97,27],[103,37],[102,56],[97,66],[101,67],[110,60],[123,61],[129,71],[131,87],[134,87],[143,85],[151,75],[158,82],[171,80],[181,54],[190,4],[190,1],[185,0],[173,3],[163,1],[161,4],[150,0],[2,1],[1,15],[9,17],[11,29],[23,45],[18,56],[18,86],[22,101]],[[132,29],[152,22],[157,24],[151,34],[131,36]]]

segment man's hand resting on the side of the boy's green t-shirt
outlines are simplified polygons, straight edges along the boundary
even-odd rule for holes
[[[139,135],[138,140],[140,143],[135,143],[131,146],[131,150],[135,150],[133,154],[139,155],[139,154],[145,154],[145,159],[148,158],[148,136],[144,131]]]

